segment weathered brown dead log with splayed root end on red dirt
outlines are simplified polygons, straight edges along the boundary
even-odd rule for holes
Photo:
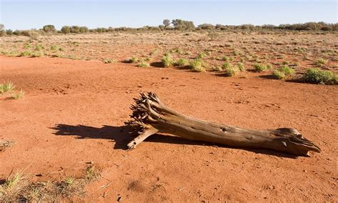
[[[292,128],[242,129],[226,124],[205,122],[187,117],[166,107],[156,94],[140,94],[130,109],[133,114],[126,122],[138,131],[138,137],[128,144],[135,148],[144,139],[155,133],[174,134],[185,139],[225,144],[229,147],[265,148],[307,156],[309,151],[320,152],[316,144],[302,137]]]

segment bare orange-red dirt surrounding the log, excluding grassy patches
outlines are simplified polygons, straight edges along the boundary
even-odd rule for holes
[[[338,88],[223,77],[101,61],[0,56],[0,82],[23,99],[0,97],[0,175],[29,166],[34,180],[80,176],[86,162],[103,169],[88,184],[90,201],[337,201]],[[154,135],[133,139],[123,122],[139,91],[153,91],[178,112],[252,129],[295,127],[322,152],[292,157]],[[33,163],[33,164],[31,164]],[[107,185],[102,189],[103,186]]]

